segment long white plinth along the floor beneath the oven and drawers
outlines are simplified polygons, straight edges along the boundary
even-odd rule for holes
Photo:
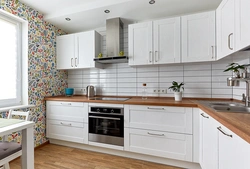
[[[50,139],[50,143],[58,144],[62,146],[79,148],[83,150],[95,151],[95,152],[100,152],[100,153],[105,153],[105,154],[112,154],[112,155],[117,155],[121,157],[150,161],[150,162],[159,163],[159,164],[176,166],[176,167],[185,168],[185,169],[201,169],[200,164],[198,163],[173,160],[173,159],[144,155],[144,154],[139,154],[139,153],[132,153],[128,151],[109,149],[109,148],[99,147],[96,145],[79,144],[79,143],[73,143],[73,142],[67,142],[67,141],[61,141],[61,140],[55,140],[55,139]]]

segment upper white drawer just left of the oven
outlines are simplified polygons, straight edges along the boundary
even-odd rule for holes
[[[88,104],[81,102],[46,102],[47,118],[74,122],[88,122]]]

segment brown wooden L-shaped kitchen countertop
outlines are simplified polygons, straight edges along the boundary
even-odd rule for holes
[[[98,96],[97,96],[98,97]],[[104,97],[104,96],[103,96]],[[105,96],[106,97],[106,96]],[[68,102],[89,102],[89,103],[107,103],[107,104],[133,104],[133,105],[151,105],[151,106],[177,106],[177,107],[197,107],[206,112],[208,115],[216,119],[218,122],[226,126],[242,139],[250,143],[250,113],[226,113],[216,112],[208,106],[202,104],[201,100],[207,101],[235,101],[232,99],[197,99],[188,98],[181,102],[174,101],[174,98],[149,97],[142,100],[141,97],[129,97],[125,101],[110,100],[91,100],[86,96],[52,96],[46,97],[46,101],[68,101]]]

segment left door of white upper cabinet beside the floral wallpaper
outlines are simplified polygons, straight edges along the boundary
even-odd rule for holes
[[[75,35],[58,36],[56,38],[57,69],[73,69],[75,56]]]

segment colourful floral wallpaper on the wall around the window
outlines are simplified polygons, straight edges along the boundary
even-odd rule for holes
[[[34,141],[38,146],[46,139],[45,96],[64,94],[67,87],[67,71],[56,70],[56,36],[66,34],[61,29],[43,20],[43,14],[18,0],[0,0],[0,9],[19,16],[29,22],[29,104],[31,119],[35,122]],[[6,117],[7,112],[2,114]],[[20,142],[20,134],[8,139]]]

